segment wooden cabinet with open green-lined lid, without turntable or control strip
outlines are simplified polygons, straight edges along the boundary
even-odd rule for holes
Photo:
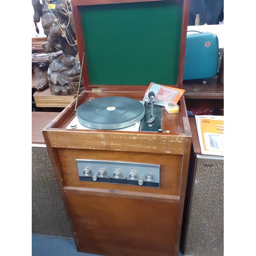
[[[100,255],[177,256],[191,148],[184,97],[179,101],[179,113],[168,114],[162,109],[162,133],[70,130],[66,127],[76,115],[76,104],[79,106],[88,100],[108,96],[142,100],[151,81],[182,86],[188,1],[73,0],[72,10],[80,63],[85,56],[82,67],[84,91],[78,96],[77,102],[74,100],[68,105],[42,133],[77,250]],[[157,20],[154,28],[150,17]],[[117,23],[115,18],[120,22]],[[131,28],[138,28],[141,22],[142,29],[135,29],[136,34],[132,33]],[[165,26],[166,23],[168,26]],[[91,28],[92,24],[96,27]],[[106,30],[101,25],[113,28],[113,24],[117,27],[104,33],[101,44],[96,42]],[[120,26],[123,26],[123,30]],[[147,33],[143,34],[145,30]],[[136,44],[131,40],[125,42],[127,34],[136,40]],[[159,38],[156,38],[157,35]],[[145,66],[147,62],[155,63],[158,58],[164,58],[163,49],[159,49],[162,42],[160,45],[156,43],[158,49],[154,49],[155,44],[151,42],[151,49],[147,49],[147,53],[140,53],[142,48],[147,47],[146,41],[151,39],[169,40],[168,44],[164,44],[167,59],[162,61],[163,72],[157,68],[154,72],[147,65],[145,69],[141,67],[141,73],[133,74],[135,70],[129,58],[134,51],[141,66],[141,58],[147,58],[143,60]],[[110,46],[111,40],[117,45]],[[126,54],[115,53],[120,44]],[[135,49],[137,46],[138,49]],[[169,47],[175,49],[169,51]],[[95,52],[97,48],[100,56]],[[104,54],[108,50],[111,53]],[[148,51],[152,51],[152,54],[148,54]],[[115,77],[111,74],[113,83],[108,72],[114,71],[108,69],[106,63],[107,74],[101,67],[101,61],[105,61],[105,58],[109,66],[115,66],[114,70],[118,73]],[[117,58],[119,60],[116,62]],[[114,59],[113,62],[111,59]],[[124,59],[127,65],[122,66]],[[118,67],[120,65],[121,69]],[[162,64],[159,62],[158,65]],[[124,68],[125,72],[122,70]],[[102,76],[98,76],[99,73],[103,73]],[[80,181],[77,159],[109,161],[113,164],[126,162],[159,165],[160,185],[148,187],[144,184]]]

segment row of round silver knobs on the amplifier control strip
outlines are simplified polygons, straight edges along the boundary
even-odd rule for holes
[[[90,176],[90,174],[91,174],[91,169],[90,168],[85,168],[84,170],[83,170],[83,175],[84,176]],[[94,174],[93,175],[93,180],[94,181],[96,181],[97,179],[98,179],[98,177],[100,177],[100,178],[103,178],[103,177],[105,177],[105,175],[106,175],[106,171],[104,170],[104,169],[99,169],[99,171],[98,171],[98,175],[96,175],[96,174]],[[120,172],[120,170],[118,170],[118,169],[116,169],[116,170],[114,170],[114,173],[113,173],[113,178],[114,179],[120,179],[121,178],[121,172]],[[129,173],[129,178],[131,179],[131,180],[136,180],[137,179],[137,173],[134,171],[134,170],[131,170],[131,172]],[[146,175],[145,175],[145,180],[146,181],[152,181],[153,180],[153,175],[151,174],[151,173],[147,173]],[[139,185],[142,185],[143,184],[143,179],[139,179],[138,180],[138,184]]]

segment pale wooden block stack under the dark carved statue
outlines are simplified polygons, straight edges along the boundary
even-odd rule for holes
[[[38,90],[33,94],[36,106],[52,108],[66,108],[76,96],[77,94],[54,95],[50,87],[45,90]]]

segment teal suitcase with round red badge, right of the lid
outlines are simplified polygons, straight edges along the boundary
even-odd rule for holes
[[[219,65],[217,35],[209,32],[188,32],[183,80],[206,79],[216,76]]]

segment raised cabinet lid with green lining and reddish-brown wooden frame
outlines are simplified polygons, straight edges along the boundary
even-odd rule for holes
[[[182,88],[188,1],[73,0],[84,90],[150,82]]]

